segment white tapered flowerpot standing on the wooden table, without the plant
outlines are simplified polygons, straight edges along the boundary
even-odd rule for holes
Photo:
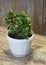
[[[13,39],[8,36],[7,32],[6,38],[8,40],[9,48],[13,55],[17,57],[22,57],[29,52],[32,39],[34,38],[34,34],[28,39]]]

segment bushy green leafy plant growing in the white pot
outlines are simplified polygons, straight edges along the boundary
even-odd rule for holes
[[[31,29],[32,18],[27,17],[24,11],[15,14],[13,10],[9,10],[4,21],[8,25],[9,36],[13,38],[28,39],[33,34]]]

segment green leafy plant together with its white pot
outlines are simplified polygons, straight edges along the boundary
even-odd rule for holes
[[[32,19],[27,17],[24,11],[15,14],[13,10],[9,10],[4,21],[8,26],[6,38],[12,54],[17,57],[25,56],[29,52],[31,41],[34,38],[31,29]]]

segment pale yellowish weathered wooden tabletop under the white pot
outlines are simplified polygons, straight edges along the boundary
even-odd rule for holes
[[[5,38],[7,29],[0,26],[0,65],[46,65],[46,36],[36,35],[32,42],[32,53],[23,58],[12,56]]]

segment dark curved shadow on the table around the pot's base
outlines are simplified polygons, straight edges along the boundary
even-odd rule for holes
[[[4,51],[4,53],[8,58],[15,60],[15,61],[23,62],[23,63],[27,63],[27,61],[30,61],[33,58],[32,52],[25,57],[15,57],[11,54],[9,50]]]

